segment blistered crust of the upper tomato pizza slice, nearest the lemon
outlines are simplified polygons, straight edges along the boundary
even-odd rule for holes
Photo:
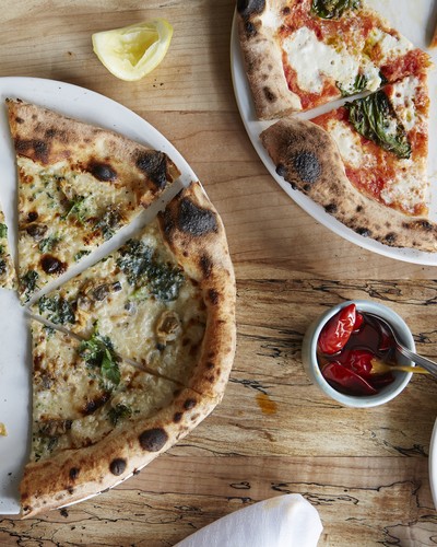
[[[302,110],[300,98],[290,91],[286,82],[282,49],[275,37],[277,28],[262,22],[262,15],[280,18],[283,2],[238,2],[238,35],[247,78],[260,119],[271,119]]]

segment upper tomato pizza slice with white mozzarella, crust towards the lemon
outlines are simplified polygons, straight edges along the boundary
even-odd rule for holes
[[[312,109],[426,72],[429,56],[364,2],[239,2],[238,32],[260,119]]]

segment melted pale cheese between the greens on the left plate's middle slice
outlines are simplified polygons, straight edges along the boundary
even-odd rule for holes
[[[157,221],[147,225],[137,241],[153,251],[158,264],[178,267],[162,240]],[[88,338],[97,325],[98,333],[108,336],[125,359],[187,385],[198,362],[206,322],[201,291],[184,275],[174,300],[154,296],[146,284],[139,290],[130,284],[129,276],[118,266],[120,252],[101,260],[47,298],[61,296],[74,310],[75,323],[66,325],[70,330]],[[95,298],[99,288],[110,288],[114,283],[117,290],[108,290],[102,299]],[[38,304],[33,306],[33,312],[50,319],[50,313]],[[161,327],[166,318],[177,326],[168,336]]]

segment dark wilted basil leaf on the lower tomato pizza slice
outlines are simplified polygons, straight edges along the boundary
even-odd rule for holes
[[[411,156],[411,144],[386,93],[381,90],[346,103],[349,119],[359,135],[398,158]]]

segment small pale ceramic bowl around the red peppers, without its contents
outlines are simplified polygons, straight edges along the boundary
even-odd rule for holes
[[[342,307],[352,303],[356,305],[356,309],[358,311],[370,312],[386,319],[393,327],[399,337],[399,340],[403,342],[406,348],[415,351],[413,335],[411,334],[410,328],[400,315],[390,310],[390,307],[387,307],[383,304],[379,304],[377,302],[373,302],[369,300],[351,300],[331,307],[311,323],[304,337],[302,346],[302,359],[305,370],[311,381],[317,384],[320,389],[329,397],[332,397],[333,399],[347,407],[376,407],[378,405],[383,405],[385,403],[388,403],[392,398],[397,397],[410,382],[412,373],[400,371],[393,372],[394,381],[391,384],[382,387],[376,395],[345,395],[334,389],[324,380],[317,361],[317,340],[319,339],[321,329],[327,324],[327,322]],[[414,364],[406,359],[400,359],[400,363]]]

